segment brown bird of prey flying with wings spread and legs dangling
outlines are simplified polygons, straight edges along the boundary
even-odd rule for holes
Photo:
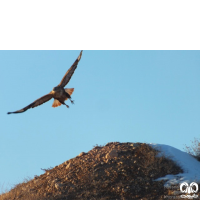
[[[52,98],[54,98],[54,102],[52,104],[52,107],[57,107],[57,106],[60,106],[61,104],[66,105],[65,101],[67,99],[69,99],[71,101],[71,103],[73,104],[74,102],[71,100],[71,95],[74,91],[74,88],[64,88],[64,87],[70,81],[70,79],[71,79],[75,69],[77,68],[77,65],[78,65],[80,59],[81,59],[81,56],[82,56],[82,51],[80,52],[78,58],[75,60],[73,65],[66,72],[66,74],[64,75],[60,84],[58,86],[54,87],[53,90],[49,94],[46,94],[46,95],[40,97],[39,99],[35,100],[33,103],[22,108],[21,110],[17,110],[15,112],[8,112],[7,114],[25,112],[26,110],[28,110],[30,108],[35,108],[36,106],[39,106],[39,105],[49,101]],[[67,108],[69,108],[68,105],[66,105],[66,106],[67,106]]]

